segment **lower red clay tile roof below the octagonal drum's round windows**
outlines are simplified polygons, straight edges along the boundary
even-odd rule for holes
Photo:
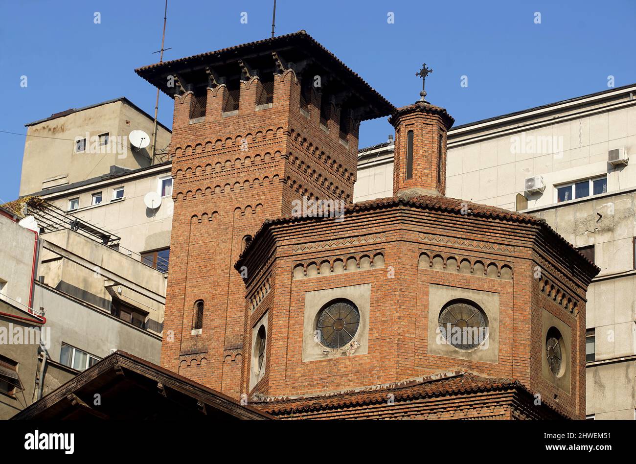
[[[456,371],[420,377],[399,383],[385,384],[361,388],[357,390],[336,391],[322,395],[306,395],[304,397],[266,398],[265,401],[252,403],[259,409],[274,416],[298,412],[318,411],[371,404],[382,404],[387,401],[388,393],[394,395],[396,402],[411,401],[424,398],[466,395],[483,391],[522,390],[530,392],[520,381],[507,377],[481,377],[468,372]],[[558,405],[546,404],[558,414],[566,416]]]

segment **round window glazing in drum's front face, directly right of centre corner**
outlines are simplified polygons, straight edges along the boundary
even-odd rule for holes
[[[488,336],[486,314],[468,300],[447,303],[439,313],[438,322],[441,334],[455,348],[475,348]]]

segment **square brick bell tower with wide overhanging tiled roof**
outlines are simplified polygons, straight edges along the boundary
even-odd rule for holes
[[[233,265],[294,199],[351,202],[359,123],[393,107],[305,31],[135,72],[174,97],[162,365],[239,397],[251,270]]]

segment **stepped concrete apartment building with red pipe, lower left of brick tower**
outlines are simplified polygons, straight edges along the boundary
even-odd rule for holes
[[[0,418],[117,349],[159,362],[165,272],[39,198],[0,208],[0,239]]]

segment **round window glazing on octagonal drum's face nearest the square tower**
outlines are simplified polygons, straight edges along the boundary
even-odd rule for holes
[[[352,341],[360,325],[360,312],[349,300],[334,300],[318,313],[316,330],[327,348],[342,348]]]

